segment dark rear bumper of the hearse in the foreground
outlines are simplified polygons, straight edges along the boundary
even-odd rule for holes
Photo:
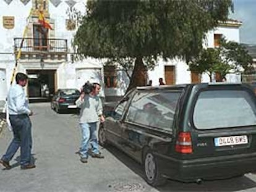
[[[256,170],[256,152],[182,161],[167,156],[156,156],[163,176],[182,182],[230,178]]]

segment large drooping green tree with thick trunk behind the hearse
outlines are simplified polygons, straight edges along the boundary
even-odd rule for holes
[[[230,9],[231,0],[88,0],[74,44],[84,56],[134,59],[129,90],[145,85],[158,57],[197,56],[207,31],[228,19]]]

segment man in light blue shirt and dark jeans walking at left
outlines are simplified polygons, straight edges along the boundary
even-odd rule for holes
[[[7,96],[7,107],[9,110],[9,120],[11,122],[14,138],[7,148],[6,154],[2,156],[0,164],[6,169],[11,169],[9,161],[20,148],[20,169],[32,169],[31,148],[32,148],[32,124],[29,115],[33,112],[28,108],[28,100],[23,87],[27,85],[28,77],[23,73],[15,76],[16,84],[12,85]]]

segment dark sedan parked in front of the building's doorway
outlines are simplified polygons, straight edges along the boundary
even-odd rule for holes
[[[78,109],[75,101],[79,98],[77,89],[59,89],[51,99],[51,109],[60,113],[70,109]]]

